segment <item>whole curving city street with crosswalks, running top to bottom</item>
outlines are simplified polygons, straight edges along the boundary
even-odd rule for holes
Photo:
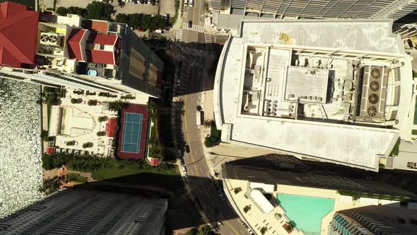
[[[184,152],[189,178],[185,183],[207,222],[216,225],[216,222],[220,221],[223,224],[220,228],[221,234],[248,234],[224,193],[223,198],[221,197],[221,181],[211,178],[213,172],[210,171],[204,156],[200,126],[196,125],[196,107],[201,105],[204,92],[213,90],[213,71],[217,63],[215,59],[221,46],[212,47],[211,42],[215,42],[216,37],[204,33],[204,0],[194,0],[194,6],[185,7],[184,16],[184,25],[177,31],[177,38],[181,40],[177,46],[182,47],[182,65],[175,80],[175,100],[181,101],[183,105],[180,115],[182,133],[177,134],[177,144]],[[189,21],[192,21],[192,28],[188,27]],[[222,43],[226,39],[223,35],[217,42]],[[184,151],[185,145],[189,146],[189,152]]]

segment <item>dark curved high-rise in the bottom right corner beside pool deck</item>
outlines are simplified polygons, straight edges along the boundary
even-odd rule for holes
[[[416,234],[416,210],[370,205],[334,214],[328,235]]]

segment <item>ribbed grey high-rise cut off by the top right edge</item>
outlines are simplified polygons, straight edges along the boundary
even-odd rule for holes
[[[211,0],[213,23],[236,29],[242,20],[274,21],[290,18],[391,18],[417,9],[404,0]]]

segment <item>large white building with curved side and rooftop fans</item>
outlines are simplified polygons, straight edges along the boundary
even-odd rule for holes
[[[392,21],[242,22],[216,72],[222,141],[378,171],[411,139],[411,60]]]

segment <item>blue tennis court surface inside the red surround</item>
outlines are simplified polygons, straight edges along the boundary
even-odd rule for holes
[[[124,113],[124,127],[122,137],[122,151],[127,153],[139,153],[142,130],[141,113]]]

